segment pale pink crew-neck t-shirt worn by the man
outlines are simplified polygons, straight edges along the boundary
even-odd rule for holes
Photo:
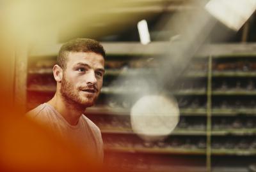
[[[96,161],[103,162],[103,141],[100,129],[84,114],[76,125],[70,125],[50,104],[44,103],[26,114],[29,118],[49,127],[54,133],[73,141],[79,148],[90,150]]]

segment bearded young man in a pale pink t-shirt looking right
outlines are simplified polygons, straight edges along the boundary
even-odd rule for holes
[[[54,97],[28,113],[63,138],[74,141],[81,150],[90,151],[92,158],[100,163],[103,159],[100,130],[83,113],[99,96],[104,57],[104,48],[93,39],[65,43],[52,69],[57,82]]]

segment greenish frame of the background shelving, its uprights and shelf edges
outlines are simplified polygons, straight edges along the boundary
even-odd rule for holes
[[[172,46],[172,43],[170,42],[154,42],[150,43],[148,45],[141,45],[140,43],[102,43],[102,45],[106,48],[106,52],[108,52],[108,55],[159,55],[159,54],[166,54],[168,50],[170,50],[170,47]],[[16,55],[16,64],[15,64],[15,90],[14,92],[17,93],[15,97],[19,97],[19,102],[27,102],[27,97],[26,93],[30,91],[35,91],[38,89],[33,89],[33,88],[27,88],[26,87],[26,81],[27,81],[27,76],[28,75],[33,75],[33,74],[51,74],[51,70],[49,69],[43,69],[41,71],[33,71],[33,70],[28,70],[28,58],[36,58],[36,57],[49,57],[49,56],[56,56],[58,53],[58,50],[60,49],[61,44],[56,44],[56,45],[38,45],[35,47],[30,48],[28,52],[22,53],[20,57],[19,55]],[[255,115],[256,114],[256,109],[239,109],[239,110],[234,110],[234,109],[212,109],[212,96],[215,95],[245,95],[245,96],[255,96],[256,92],[247,92],[241,90],[240,92],[236,91],[227,91],[227,92],[222,92],[222,91],[216,91],[212,90],[212,78],[214,77],[256,77],[256,72],[254,71],[212,71],[212,60],[214,59],[220,59],[220,58],[236,58],[236,57],[250,57],[254,58],[256,57],[256,43],[230,43],[230,44],[218,44],[218,45],[204,45],[200,50],[196,53],[196,57],[198,58],[207,58],[208,59],[208,70],[207,72],[195,72],[195,73],[189,73],[187,76],[191,77],[205,77],[207,78],[207,90],[203,92],[180,92],[177,94],[206,94],[207,96],[207,107],[205,109],[183,109],[180,110],[181,113],[184,115],[206,115],[207,117],[207,130],[206,130],[206,136],[207,136],[207,147],[206,150],[200,150],[199,152],[194,152],[195,154],[202,154],[207,157],[206,161],[206,168],[207,171],[211,171],[211,156],[212,155],[223,155],[226,150],[214,150],[211,148],[211,136],[212,134],[226,134],[228,131],[225,133],[221,133],[221,131],[218,133],[218,131],[212,131],[211,129],[211,120],[212,116],[214,115]],[[20,72],[22,71],[22,72]],[[119,71],[107,71],[107,75],[120,75]],[[122,75],[122,74],[121,74]],[[125,72],[124,72],[124,75]],[[49,90],[46,89],[47,92],[52,92],[52,88],[49,88]],[[45,89],[39,90],[44,92]],[[18,99],[18,98],[17,98]],[[22,99],[22,100],[21,100]],[[18,100],[17,100],[18,101]],[[129,111],[120,109],[120,110],[113,110],[109,108],[108,110],[106,109],[99,109],[99,108],[93,108],[91,110],[88,110],[88,113],[104,113],[104,114],[111,114],[111,115],[129,115]],[[243,133],[241,131],[241,133]],[[237,134],[237,133],[236,133]],[[238,133],[239,134],[239,133]],[[248,133],[247,133],[248,134]],[[252,131],[252,133],[249,134],[255,134],[255,132]],[[154,150],[149,150],[145,148],[144,150],[129,150],[131,152],[155,152],[157,154],[166,151],[163,149],[154,149]],[[184,150],[170,150],[170,152],[183,152],[184,154],[190,154],[188,151]],[[247,152],[240,151],[240,150],[230,150],[228,154],[237,154],[237,155],[252,155],[255,154],[255,151],[248,150]],[[193,153],[193,151],[192,151]]]

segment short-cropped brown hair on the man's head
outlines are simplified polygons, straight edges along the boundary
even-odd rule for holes
[[[72,39],[61,46],[57,57],[57,64],[63,69],[67,68],[68,52],[95,52],[106,57],[105,50],[98,41],[88,38]]]

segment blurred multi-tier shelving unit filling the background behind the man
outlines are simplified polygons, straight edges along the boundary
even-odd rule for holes
[[[145,45],[143,46],[143,48],[142,45],[140,45],[139,43],[103,43],[103,45],[104,47],[106,47],[106,52],[109,52],[106,59],[107,62],[124,60],[120,59],[120,55],[128,55],[125,61],[129,62],[134,61],[134,58],[129,59],[130,56],[132,57],[133,53],[131,52],[132,46],[141,47],[141,52],[138,48],[136,48],[134,54],[136,54],[136,56],[140,54],[141,59],[145,59],[148,57],[147,55],[151,53],[149,51],[149,48],[154,46],[154,43],[152,43],[151,45]],[[156,43],[156,46],[158,45],[161,45],[161,48],[166,48],[170,45],[170,43]],[[51,96],[54,94],[56,86],[54,85],[54,80],[52,78],[51,66],[53,65],[52,62],[54,62],[54,59],[56,58],[56,53],[59,47],[60,45],[55,45],[32,49],[30,54],[28,55],[28,64],[26,64],[28,66],[26,77],[23,76],[24,73],[18,74],[20,76],[23,76],[23,78],[28,78],[28,84],[26,85],[26,87],[22,88],[23,90],[19,90],[21,93],[23,92],[24,94],[25,92],[27,95],[27,110],[35,108],[36,105],[47,101],[47,99],[50,99]],[[113,47],[115,47],[117,52],[115,52]],[[252,47],[255,47],[255,49],[253,50]],[[159,52],[161,52],[161,48]],[[245,55],[246,57],[244,57]],[[109,56],[111,56],[110,60],[108,60]],[[152,56],[154,56],[154,54],[150,54],[149,57]],[[115,156],[117,158],[118,155],[116,154],[127,154],[127,156],[131,157],[140,154],[142,156],[143,163],[145,164],[149,162],[147,162],[147,158],[145,158],[143,154],[156,156],[157,158],[153,158],[154,160],[152,160],[152,162],[157,161],[157,159],[159,158],[158,156],[167,156],[168,158],[172,158],[175,155],[180,155],[181,157],[183,156],[183,158],[186,158],[186,161],[184,161],[185,164],[192,163],[193,159],[195,159],[196,157],[196,159],[199,159],[200,161],[198,162],[198,164],[200,164],[201,171],[215,171],[216,169],[219,169],[220,166],[223,166],[223,164],[225,164],[225,161],[218,161],[218,157],[232,156],[236,159],[239,159],[239,157],[243,159],[243,157],[246,156],[249,161],[247,162],[247,164],[246,162],[241,162],[241,166],[243,169],[246,168],[246,166],[249,166],[256,156],[256,140],[253,139],[256,135],[256,124],[250,124],[251,127],[243,127],[243,125],[232,127],[231,125],[227,128],[217,127],[217,129],[214,126],[216,125],[216,121],[218,123],[218,118],[220,118],[219,122],[223,120],[223,124],[217,125],[222,126],[227,124],[227,121],[225,121],[227,119],[239,120],[239,118],[242,117],[250,119],[252,118],[252,122],[253,120],[255,122],[256,108],[253,107],[253,104],[251,104],[250,107],[241,106],[241,103],[240,106],[238,104],[236,105],[236,107],[232,107],[232,104],[234,104],[234,100],[236,99],[240,101],[240,99],[242,99],[241,97],[249,97],[248,100],[253,101],[253,96],[256,95],[256,87],[253,87],[253,89],[250,90],[246,89],[246,87],[236,89],[236,85],[233,85],[234,87],[228,86],[228,88],[225,89],[218,89],[218,87],[216,87],[216,89],[214,88],[214,83],[222,83],[220,82],[220,80],[228,80],[230,78],[234,81],[242,78],[243,80],[253,80],[256,84],[256,69],[248,71],[234,71],[223,69],[222,71],[218,71],[214,68],[216,67],[216,63],[221,63],[222,61],[230,61],[230,59],[244,59],[246,61],[250,59],[250,61],[256,62],[255,57],[256,45],[254,44],[207,45],[205,47],[202,47],[202,49],[198,52],[194,59],[195,61],[204,61],[206,69],[192,71],[191,68],[188,68],[189,73],[185,72],[182,75],[185,80],[194,80],[195,83],[198,83],[198,80],[200,80],[199,83],[202,83],[202,87],[198,87],[198,85],[193,85],[193,82],[191,82],[191,88],[189,88],[189,85],[186,85],[184,83],[184,85],[182,86],[178,85],[181,89],[176,88],[168,90],[168,92],[166,92],[166,94],[173,94],[175,97],[177,97],[177,100],[180,104],[180,123],[177,129],[175,129],[175,131],[173,131],[173,133],[170,135],[170,137],[168,137],[164,141],[160,141],[161,143],[152,143],[152,145],[154,146],[147,145],[149,143],[145,143],[145,141],[138,138],[138,136],[136,136],[136,134],[132,132],[131,125],[129,125],[129,107],[131,106],[131,103],[128,103],[128,107],[124,108],[124,102],[109,103],[108,99],[108,97],[115,97],[119,94],[136,93],[136,90],[131,90],[131,92],[124,91],[124,89],[118,88],[118,85],[116,85],[116,87],[109,87],[109,80],[113,81],[116,77],[136,75],[138,72],[143,72],[146,75],[150,75],[152,71],[150,71],[150,69],[141,70],[133,69],[131,67],[129,69],[123,70],[121,70],[122,68],[106,69],[106,75],[104,76],[106,80],[106,85],[104,85],[104,87],[102,88],[102,94],[99,97],[97,106],[88,108],[88,110],[86,110],[86,114],[97,125],[99,125],[102,131],[102,136],[106,143],[105,145],[107,157],[109,154],[109,159],[113,158],[111,157],[111,152],[115,152]],[[19,68],[19,66],[17,66],[17,68]],[[24,66],[22,66],[22,68],[24,68]],[[179,83],[181,82],[182,81],[180,81]],[[219,99],[227,99],[226,105],[222,106]],[[188,102],[184,103],[182,101]],[[197,101],[198,103],[196,104]],[[189,104],[191,103],[195,104],[193,104],[193,106],[190,106]],[[119,123],[118,118],[120,118]],[[183,119],[185,119],[184,124],[182,124]],[[188,121],[186,122],[186,120]],[[126,122],[125,126],[122,126],[122,121]],[[196,121],[200,121],[201,123],[196,124]],[[197,128],[193,127],[194,125],[196,125]],[[130,139],[131,143],[128,143],[127,146],[125,146],[125,141],[121,141],[122,143],[111,143],[111,141],[118,142],[118,139],[116,138],[120,138],[121,140],[122,138],[127,138],[126,141],[129,142]],[[134,143],[134,140],[136,140],[136,143]],[[173,140],[174,143],[172,142]],[[181,142],[179,143],[180,140]],[[239,143],[239,141],[241,141],[242,144],[244,141],[246,142],[247,140],[250,140],[250,143],[248,143],[247,145],[250,148],[236,148],[236,141],[238,141],[237,144]],[[175,141],[177,141],[177,143],[175,143]],[[218,145],[218,141],[222,141],[223,145],[228,145],[230,144],[230,142],[232,143],[233,141],[235,145],[233,145],[233,148],[218,148],[218,146],[220,146],[220,144]],[[227,143],[225,141],[227,141]],[[138,147],[138,145],[140,145],[140,147]],[[161,147],[159,145],[161,145]],[[191,159],[189,159],[189,157],[191,157]],[[109,160],[107,159],[107,161]],[[175,165],[176,164],[172,164],[172,166]],[[227,166],[229,166],[229,164],[227,164]],[[167,169],[168,168],[166,168],[166,170]],[[196,167],[194,167],[194,169],[196,169]],[[147,170],[154,171],[154,168],[150,166],[150,168]],[[138,169],[138,171],[140,171],[140,169]],[[141,169],[141,171],[143,170]],[[164,169],[162,171],[164,171]]]

